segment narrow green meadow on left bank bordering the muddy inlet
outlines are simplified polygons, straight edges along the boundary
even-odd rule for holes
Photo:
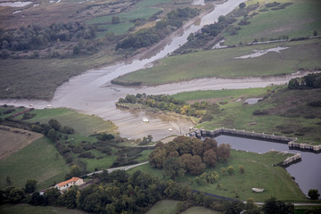
[[[96,116],[89,116],[78,113],[70,109],[44,109],[34,110],[31,113],[37,114],[29,122],[47,123],[49,119],[57,119],[62,126],[68,126],[75,129],[77,134],[90,136],[97,133],[107,132],[113,135],[117,134],[117,127],[110,120],[103,120]],[[22,116],[17,117],[21,119]]]

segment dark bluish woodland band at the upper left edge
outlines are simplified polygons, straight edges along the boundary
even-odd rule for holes
[[[20,29],[0,29],[2,50],[35,50],[57,41],[78,41],[95,38],[95,28],[79,22],[53,23],[47,27],[29,25]]]

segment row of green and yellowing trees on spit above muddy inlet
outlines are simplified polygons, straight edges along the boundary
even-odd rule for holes
[[[141,103],[161,111],[175,111],[178,114],[201,118],[201,121],[209,121],[212,118],[210,114],[218,113],[217,104],[209,104],[207,102],[187,104],[168,95],[126,95],[119,98],[119,103]]]

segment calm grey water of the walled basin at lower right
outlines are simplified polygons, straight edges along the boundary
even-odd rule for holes
[[[269,141],[248,139],[237,136],[217,136],[215,139],[218,144],[231,144],[232,148],[248,151],[248,152],[268,152],[271,150],[279,152],[295,152],[301,154],[301,161],[292,164],[286,170],[292,177],[295,177],[295,182],[300,185],[300,189],[306,195],[309,189],[317,189],[321,192],[321,153],[302,152],[290,150],[287,144],[274,143]]]

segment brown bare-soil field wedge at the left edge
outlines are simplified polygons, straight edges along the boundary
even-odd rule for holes
[[[0,161],[2,161],[43,135],[20,128],[0,126],[0,136]]]

